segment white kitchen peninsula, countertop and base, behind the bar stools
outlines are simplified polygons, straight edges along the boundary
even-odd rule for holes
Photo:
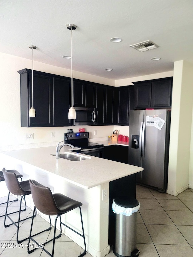
[[[70,149],[65,146],[60,154]],[[24,180],[34,179],[49,186],[52,193],[62,193],[82,202],[87,252],[96,257],[103,257],[109,252],[109,182],[142,171],[143,168],[88,155],[84,155],[87,159],[82,161],[56,159],[51,155],[55,154],[55,151],[56,148],[51,146],[1,152],[1,168],[16,169],[24,175]],[[103,190],[107,191],[105,199]],[[31,196],[27,198],[27,205],[33,208]],[[46,215],[41,216],[48,219]],[[67,223],[73,224],[81,231],[76,209],[63,216]],[[83,247],[82,238],[74,236],[68,229],[63,232]]]

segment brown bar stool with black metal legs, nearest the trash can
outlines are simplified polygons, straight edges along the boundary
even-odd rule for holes
[[[31,188],[33,202],[35,204],[33,213],[35,212],[35,208],[37,208],[43,214],[49,215],[49,218],[50,218],[50,215],[56,215],[56,218],[55,218],[55,225],[54,225],[55,226],[54,227],[54,237],[51,240],[47,241],[46,243],[42,244],[42,245],[45,245],[45,244],[53,241],[52,253],[50,253],[46,249],[42,248],[42,245],[40,246],[39,243],[33,239],[33,236],[31,236],[32,227],[33,227],[33,218],[32,218],[30,237],[29,237],[29,243],[28,243],[28,248],[27,248],[28,253],[31,253],[34,250],[38,249],[38,247],[37,247],[32,250],[29,250],[30,240],[32,240],[34,243],[36,243],[38,246],[40,246],[49,256],[53,257],[54,256],[55,238],[61,237],[62,225],[64,225],[65,227],[68,227],[69,229],[71,229],[72,231],[77,233],[79,236],[83,237],[85,249],[84,249],[84,252],[81,255],[79,255],[78,257],[84,256],[86,254],[86,242],[85,242],[84,227],[83,227],[82,213],[81,213],[81,207],[80,207],[82,205],[82,203],[75,201],[75,200],[73,200],[67,196],[64,196],[60,193],[52,194],[49,187],[43,186],[35,180],[29,180],[29,182],[30,182],[30,188]],[[75,208],[80,209],[82,234],[78,233],[71,227],[69,227],[66,224],[64,224],[63,222],[61,222],[61,215],[65,214],[67,212],[70,212],[71,210],[73,210]],[[60,218],[60,233],[58,236],[55,236],[56,221],[57,221],[58,217]]]

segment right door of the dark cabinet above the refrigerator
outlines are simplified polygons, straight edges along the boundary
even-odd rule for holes
[[[171,107],[172,79],[152,82],[151,106]]]

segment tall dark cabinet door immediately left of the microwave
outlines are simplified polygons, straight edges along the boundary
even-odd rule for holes
[[[53,83],[53,114],[54,126],[71,126],[68,119],[70,108],[71,81],[54,77]]]

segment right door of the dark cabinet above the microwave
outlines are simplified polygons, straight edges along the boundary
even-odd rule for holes
[[[86,87],[85,107],[96,108],[96,86],[87,83],[85,87]]]

